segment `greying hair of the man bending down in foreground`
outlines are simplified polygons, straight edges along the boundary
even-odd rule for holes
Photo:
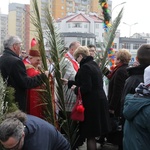
[[[23,123],[17,118],[5,119],[0,124],[0,140],[6,142],[10,137],[19,140],[24,131]]]

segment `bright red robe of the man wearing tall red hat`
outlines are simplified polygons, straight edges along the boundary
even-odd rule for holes
[[[23,60],[27,75],[30,77],[36,76],[40,74],[40,71],[35,69],[34,66],[30,64],[30,62],[27,59]],[[42,101],[40,97],[40,93],[42,92],[42,89],[40,87],[36,87],[34,89],[28,90],[28,96],[27,96],[27,113],[43,118],[43,111],[42,111]]]

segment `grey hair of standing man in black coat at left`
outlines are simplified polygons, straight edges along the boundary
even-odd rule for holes
[[[10,36],[8,39],[4,40],[4,48],[10,48],[13,44],[22,43],[18,36]]]

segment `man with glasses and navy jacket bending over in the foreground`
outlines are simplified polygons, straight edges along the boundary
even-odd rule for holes
[[[21,111],[8,114],[0,124],[0,142],[6,150],[70,150],[54,126]]]

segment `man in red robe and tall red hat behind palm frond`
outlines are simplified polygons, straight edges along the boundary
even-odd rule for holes
[[[23,62],[29,77],[34,77],[41,74],[40,70],[38,69],[38,66],[41,65],[39,44],[31,47],[29,50],[29,56],[26,57]],[[43,92],[42,89],[42,86],[29,89],[27,96],[27,113],[39,118],[43,118],[44,111],[42,105],[43,101],[40,96]]]

